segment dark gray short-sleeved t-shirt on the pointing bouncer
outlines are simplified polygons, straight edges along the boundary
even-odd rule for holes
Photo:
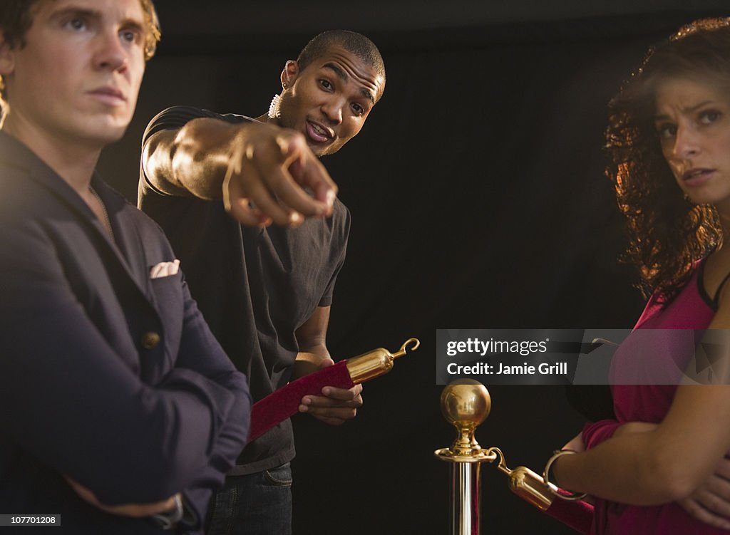
[[[252,120],[172,107],[147,126],[143,150],[156,132],[202,117]],[[345,205],[336,201],[331,218],[306,220],[298,228],[249,228],[226,213],[223,201],[167,195],[140,169],[139,207],[165,231],[213,334],[247,374],[253,401],[285,385],[299,351],[296,329],[332,302],[350,231]],[[293,457],[291,422],[285,420],[248,444],[231,474],[260,472]]]

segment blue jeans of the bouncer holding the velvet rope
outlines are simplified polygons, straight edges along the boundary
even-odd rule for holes
[[[226,477],[208,508],[206,535],[291,535],[291,465]]]

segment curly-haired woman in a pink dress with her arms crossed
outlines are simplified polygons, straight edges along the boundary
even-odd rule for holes
[[[610,103],[607,142],[629,223],[627,258],[651,297],[612,363],[616,419],[585,426],[566,445],[577,453],[554,455],[546,476],[596,497],[593,533],[723,533],[730,529],[730,247],[723,247],[730,19],[698,20],[650,50]],[[671,333],[683,332],[689,351],[672,342]],[[696,366],[696,333],[723,350],[712,365]],[[647,359],[661,380],[623,384],[640,382],[631,374]],[[667,369],[679,371],[673,384]]]

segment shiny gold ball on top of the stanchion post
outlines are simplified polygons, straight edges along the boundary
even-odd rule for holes
[[[478,426],[486,420],[491,407],[487,388],[473,379],[457,379],[441,393],[441,412],[456,427]]]

